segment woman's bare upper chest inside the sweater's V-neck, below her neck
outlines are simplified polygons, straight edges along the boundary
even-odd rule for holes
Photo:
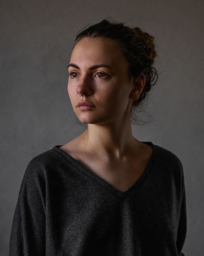
[[[145,171],[151,158],[152,149],[151,147],[145,148],[138,156],[133,154],[122,160],[84,154],[68,147],[66,148],[66,153],[77,160],[88,172],[108,182],[120,192],[124,192],[133,186]]]

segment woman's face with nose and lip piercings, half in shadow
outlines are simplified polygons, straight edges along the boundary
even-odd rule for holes
[[[133,84],[127,61],[115,42],[83,38],[75,45],[68,65],[68,94],[80,122],[108,124],[130,118]],[[80,96],[80,94],[83,94]],[[87,101],[89,109],[78,107]]]

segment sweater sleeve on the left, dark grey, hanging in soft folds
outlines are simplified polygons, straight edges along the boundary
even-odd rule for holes
[[[44,181],[31,160],[22,179],[12,221],[9,256],[45,255]]]

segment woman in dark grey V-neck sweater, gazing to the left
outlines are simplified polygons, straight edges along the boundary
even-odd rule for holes
[[[183,255],[182,163],[131,131],[133,109],[158,77],[153,39],[108,20],[77,35],[68,94],[87,129],[28,164],[10,256]]]

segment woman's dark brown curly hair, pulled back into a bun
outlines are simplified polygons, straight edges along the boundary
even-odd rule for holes
[[[143,32],[139,27],[130,28],[122,22],[110,22],[103,19],[101,22],[82,29],[76,36],[74,45],[84,37],[106,38],[117,41],[121,45],[124,57],[128,63],[130,77],[138,77],[144,74],[146,82],[139,98],[133,101],[133,107],[139,105],[145,99],[158,80],[158,72],[153,67],[157,55],[155,51],[154,37]]]

